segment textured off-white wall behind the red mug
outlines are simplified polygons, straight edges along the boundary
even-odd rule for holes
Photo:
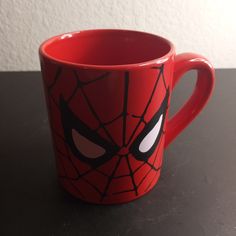
[[[128,28],[171,39],[177,52],[236,67],[233,0],[0,0],[0,70],[38,70],[46,38],[81,29]]]

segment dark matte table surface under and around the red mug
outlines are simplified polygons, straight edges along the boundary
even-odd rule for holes
[[[191,93],[177,86],[172,112]],[[165,151],[161,178],[128,204],[85,204],[57,183],[39,72],[0,73],[0,235],[236,235],[236,70]]]

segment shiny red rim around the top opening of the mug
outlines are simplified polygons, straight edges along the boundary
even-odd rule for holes
[[[96,64],[83,64],[83,63],[70,62],[68,60],[58,59],[57,57],[52,56],[46,52],[46,47],[48,45],[51,45],[59,40],[73,37],[73,36],[76,36],[80,33],[91,33],[91,32],[97,33],[97,32],[102,32],[102,31],[103,32],[114,32],[114,31],[119,32],[120,31],[120,32],[139,33],[139,34],[143,34],[143,35],[149,35],[149,36],[155,37],[155,38],[161,40],[162,42],[168,44],[169,50],[167,53],[165,53],[161,57],[157,57],[157,58],[154,58],[151,60],[138,62],[138,63],[120,64],[120,65],[96,65]],[[174,44],[171,41],[169,41],[168,39],[166,39],[162,36],[156,35],[156,34],[145,32],[145,31],[137,31],[137,30],[129,30],[129,29],[88,29],[88,30],[72,31],[72,32],[63,33],[63,34],[59,34],[59,35],[50,37],[49,39],[43,41],[41,43],[41,45],[39,46],[40,57],[46,58],[56,64],[67,65],[67,66],[72,66],[72,67],[76,67],[76,68],[83,68],[83,69],[124,70],[124,69],[133,69],[133,68],[142,68],[142,67],[146,67],[146,66],[150,66],[150,65],[164,63],[173,54],[175,54],[175,47],[174,47]]]

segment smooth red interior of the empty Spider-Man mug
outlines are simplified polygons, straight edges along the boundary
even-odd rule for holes
[[[117,66],[161,58],[171,51],[171,43],[145,32],[85,30],[53,37],[40,51],[64,63]]]

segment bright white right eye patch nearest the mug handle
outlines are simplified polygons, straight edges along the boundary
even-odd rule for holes
[[[160,132],[162,124],[163,114],[159,117],[158,122],[153,129],[144,137],[143,141],[139,145],[140,152],[147,152],[155,143],[156,138]]]

